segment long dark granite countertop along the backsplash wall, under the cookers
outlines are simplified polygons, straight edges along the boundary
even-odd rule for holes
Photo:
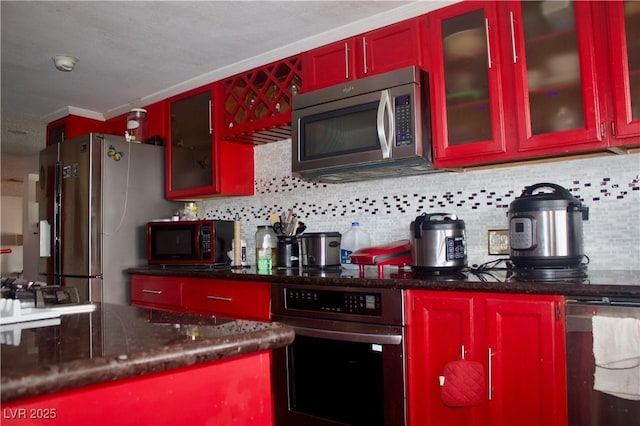
[[[640,298],[640,270],[633,271],[586,271],[587,278],[564,281],[524,281],[512,276],[504,269],[483,273],[464,272],[451,276],[426,276],[415,274],[410,267],[399,270],[397,266],[384,268],[383,276],[374,267],[365,269],[360,276],[358,270],[328,269],[276,270],[258,273],[253,268],[242,270],[211,270],[188,267],[130,268],[130,274],[189,276],[245,281],[264,281],[285,285],[326,285],[371,288],[399,288],[423,290],[486,291],[500,293],[553,294],[575,298],[622,297]]]

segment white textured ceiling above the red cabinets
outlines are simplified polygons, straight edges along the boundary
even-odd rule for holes
[[[3,0],[2,152],[40,148],[42,123],[69,107],[110,118],[448,3]],[[78,57],[76,69],[57,71],[56,54]],[[8,113],[33,128],[6,128]]]

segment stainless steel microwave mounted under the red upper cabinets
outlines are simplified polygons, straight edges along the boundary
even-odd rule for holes
[[[292,171],[325,182],[433,172],[430,115],[418,67],[297,95]]]

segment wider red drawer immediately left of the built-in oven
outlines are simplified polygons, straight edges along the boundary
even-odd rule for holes
[[[268,321],[268,283],[192,278],[184,282],[183,305],[189,312],[233,319]]]

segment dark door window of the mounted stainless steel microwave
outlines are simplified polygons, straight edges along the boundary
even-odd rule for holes
[[[302,118],[300,159],[379,151],[378,105],[368,102]]]

